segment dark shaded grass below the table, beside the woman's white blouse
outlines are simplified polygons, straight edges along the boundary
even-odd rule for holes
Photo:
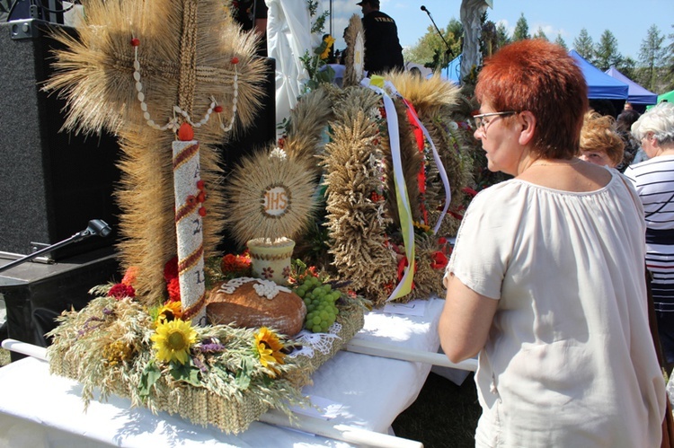
[[[474,447],[481,413],[473,373],[460,386],[430,373],[417,400],[395,419],[393,428],[395,435],[424,448]]]

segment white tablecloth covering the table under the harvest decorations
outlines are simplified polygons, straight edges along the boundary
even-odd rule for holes
[[[422,316],[370,312],[356,338],[436,352],[439,299],[423,301]],[[313,376],[303,392],[336,403],[334,425],[386,433],[395,417],[416,400],[430,365],[340,352]],[[239,435],[194,426],[165,412],[130,408],[111,397],[84,412],[82,386],[49,375],[49,365],[26,358],[0,368],[0,446],[8,447],[347,447],[350,444],[253,422]],[[341,406],[340,406],[341,405]]]

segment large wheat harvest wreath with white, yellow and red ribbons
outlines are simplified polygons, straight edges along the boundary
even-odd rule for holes
[[[466,186],[473,170],[471,148],[463,141],[470,127],[454,118],[458,88],[439,75],[425,80],[391,73],[386,81],[399,92],[390,112],[387,89],[324,83],[299,99],[279,140],[289,156],[314,157],[324,185],[324,214],[297,238],[297,256],[349,279],[350,288],[375,306],[442,296],[447,237],[456,233],[470,199]],[[399,207],[403,184],[406,223]],[[406,241],[404,224],[413,228]],[[400,292],[406,269],[412,270],[412,285]]]

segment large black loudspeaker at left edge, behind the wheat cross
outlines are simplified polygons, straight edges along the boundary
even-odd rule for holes
[[[39,20],[0,23],[0,251],[27,255],[63,241],[91,219],[111,224],[108,238],[90,238],[53,252],[63,259],[111,246],[119,219],[112,192],[120,180],[114,136],[59,132],[65,101],[40,90],[52,73],[50,38],[56,27]]]

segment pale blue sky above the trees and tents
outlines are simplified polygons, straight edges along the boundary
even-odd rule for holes
[[[359,0],[320,1],[326,10],[333,4],[335,48],[344,48],[341,35],[350,16],[354,13],[360,16],[360,6],[356,4]],[[674,0],[493,0],[492,3],[493,8],[487,8],[488,19],[503,22],[510,34],[521,13],[527,19],[529,34],[536,33],[538,27],[549,40],[555,40],[560,34],[568,48],[573,47],[573,40],[583,28],[595,43],[609,30],[616,37],[618,51],[634,60],[638,60],[639,48],[651,25],[658,26],[665,36],[674,33],[671,26]],[[421,11],[421,5],[426,6],[440,29],[445,28],[452,17],[460,20],[461,0],[381,0],[380,10],[395,20],[403,47],[414,46],[433,26],[429,16]],[[325,31],[330,31],[328,23]]]

